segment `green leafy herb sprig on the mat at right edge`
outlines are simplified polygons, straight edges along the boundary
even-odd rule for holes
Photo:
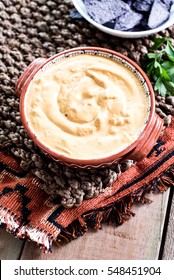
[[[174,95],[174,48],[169,38],[154,39],[143,67],[159,95]]]

